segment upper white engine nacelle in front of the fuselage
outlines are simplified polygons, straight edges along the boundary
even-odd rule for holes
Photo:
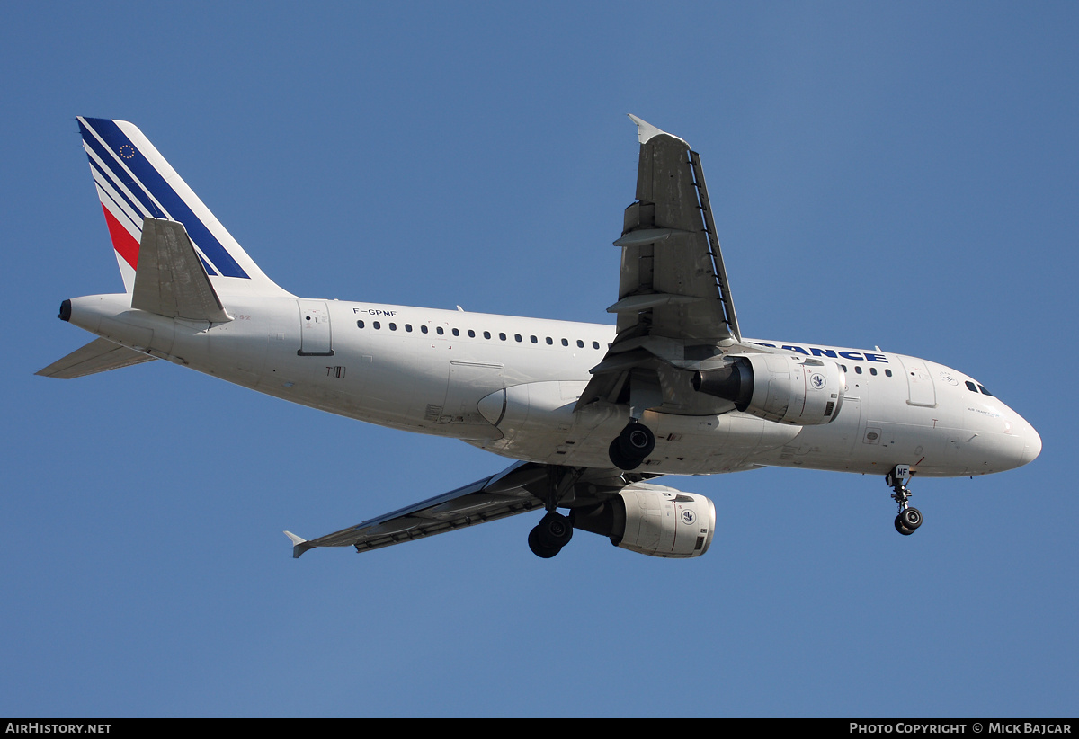
[[[728,358],[734,361],[694,374],[693,388],[778,423],[818,426],[839,414],[847,378],[834,361],[786,354]]]

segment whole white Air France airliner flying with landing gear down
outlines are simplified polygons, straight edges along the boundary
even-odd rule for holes
[[[640,155],[618,293],[597,325],[298,298],[277,286],[126,121],[79,118],[125,291],[63,301],[97,338],[38,374],[166,359],[368,423],[461,439],[501,473],[314,539],[379,549],[536,511],[531,550],[575,531],[642,555],[704,555],[708,497],[655,482],[766,466],[909,483],[1027,464],[1041,438],[974,378],[903,354],[742,334],[700,156],[630,115]],[[562,512],[564,511],[564,512]]]

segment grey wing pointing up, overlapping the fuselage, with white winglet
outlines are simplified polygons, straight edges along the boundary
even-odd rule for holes
[[[634,370],[650,373],[639,386],[658,388],[659,364],[699,369],[702,360],[745,346],[715,234],[712,206],[697,152],[689,145],[630,115],[641,142],[637,201],[626,208],[622,247],[617,336],[592,368],[577,408],[597,399],[626,399]],[[663,391],[670,401],[670,391]],[[644,392],[646,407],[659,405]],[[636,403],[640,405],[640,403]]]

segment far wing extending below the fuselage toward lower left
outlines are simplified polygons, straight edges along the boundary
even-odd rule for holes
[[[293,558],[315,547],[351,546],[356,551],[370,551],[542,509],[551,494],[563,503],[601,499],[631,481],[653,477],[658,476],[517,462],[497,475],[310,542],[287,531],[285,534],[292,539]]]

